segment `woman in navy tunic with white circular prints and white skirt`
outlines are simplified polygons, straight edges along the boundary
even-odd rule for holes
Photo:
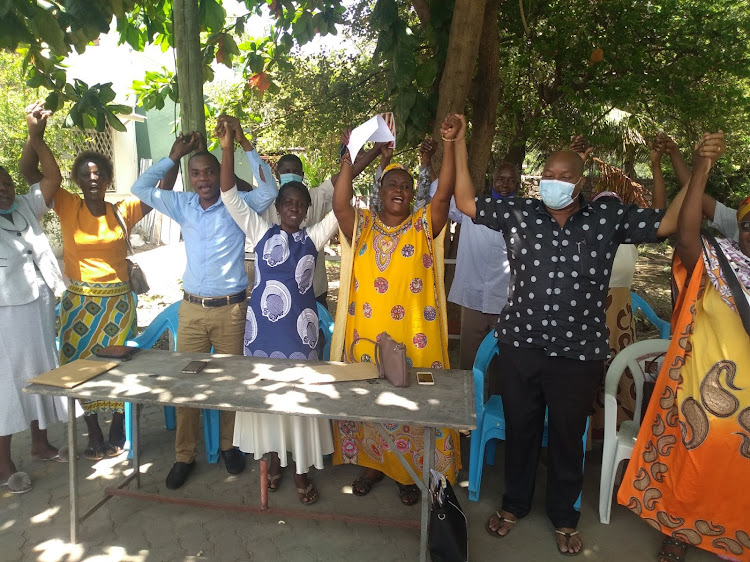
[[[220,122],[221,198],[229,214],[256,249],[255,285],[245,324],[245,355],[279,359],[318,359],[318,315],[313,273],[318,251],[338,231],[333,213],[300,228],[310,206],[304,184],[289,182],[279,190],[276,209],[281,225],[261,218],[237,195],[234,180],[234,140],[242,135],[231,122]],[[239,140],[239,139],[237,139]],[[270,453],[268,488],[277,490],[282,468],[291,452],[300,502],[317,501],[318,492],[307,472],[323,468],[323,456],[333,452],[330,422],[308,416],[238,412],[234,444],[256,460]]]

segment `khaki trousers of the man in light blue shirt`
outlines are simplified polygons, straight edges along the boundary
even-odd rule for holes
[[[177,326],[177,351],[197,351],[242,355],[247,301],[215,308],[182,301]],[[200,376],[189,375],[189,376]],[[200,410],[177,408],[175,459],[191,463],[198,455]],[[219,448],[232,448],[235,412],[222,411],[219,426]]]

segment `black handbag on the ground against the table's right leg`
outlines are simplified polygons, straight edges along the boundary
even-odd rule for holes
[[[430,531],[427,546],[432,562],[467,562],[467,522],[456,494],[445,476],[430,471]]]

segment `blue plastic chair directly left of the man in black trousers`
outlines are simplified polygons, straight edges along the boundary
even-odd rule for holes
[[[485,456],[487,464],[495,464],[495,439],[505,440],[505,412],[503,411],[503,399],[498,395],[490,396],[484,401],[484,377],[490,361],[500,351],[497,347],[495,331],[490,331],[482,340],[474,359],[474,408],[477,416],[477,428],[471,432],[471,456],[469,457],[469,499],[479,501],[479,490],[482,486],[482,468]],[[586,435],[589,431],[589,422],[586,421],[586,430],[583,432],[583,454],[586,459]],[[542,447],[547,446],[547,413],[544,414],[544,434],[542,436]],[[486,454],[485,454],[486,453]],[[583,468],[583,467],[582,467]],[[581,509],[581,495],[578,495],[575,506]]]

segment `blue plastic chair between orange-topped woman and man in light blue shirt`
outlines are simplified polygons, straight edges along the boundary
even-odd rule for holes
[[[169,332],[172,349],[177,347],[177,313],[180,309],[180,302],[170,304],[162,310],[159,315],[149,324],[143,332],[138,334],[135,339],[128,340],[126,343],[131,347],[140,347],[142,349],[151,349],[159,340],[164,332]],[[219,462],[219,411],[203,410],[203,435],[206,443],[206,459],[209,463]],[[130,443],[132,425],[132,405],[125,403],[125,438]],[[174,406],[164,406],[164,425],[167,429],[177,427],[177,413]],[[128,449],[130,447],[128,446]],[[128,453],[130,458],[132,451]]]

